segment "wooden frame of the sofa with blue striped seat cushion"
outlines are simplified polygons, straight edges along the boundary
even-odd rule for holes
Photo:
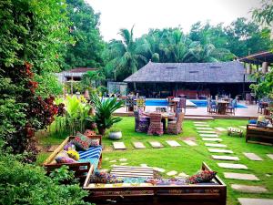
[[[64,163],[64,164],[56,164],[55,158],[56,155],[64,150],[64,147],[66,146],[67,142],[71,141],[72,139],[76,138],[76,136],[70,136],[67,137],[62,144],[47,158],[45,159],[43,166],[45,167],[45,170],[49,174],[54,169],[58,169],[62,167],[63,165],[66,165],[69,167],[70,170],[75,171],[75,177],[80,180],[80,182],[83,184],[83,182],[86,179],[88,171],[91,169],[90,162],[76,162],[76,163]],[[88,138],[99,138],[99,144],[101,145],[101,135],[96,136],[88,136]],[[102,161],[102,153],[99,157],[98,161],[98,167],[100,167]]]

